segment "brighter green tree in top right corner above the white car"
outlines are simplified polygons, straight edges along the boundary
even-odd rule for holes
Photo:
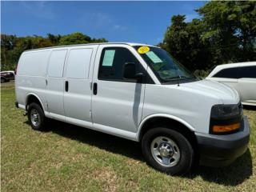
[[[255,60],[256,2],[208,2],[198,9],[202,41],[221,52],[221,62]]]

